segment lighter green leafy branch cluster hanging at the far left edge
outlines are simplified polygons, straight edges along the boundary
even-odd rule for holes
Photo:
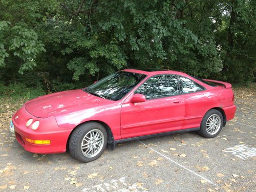
[[[6,21],[0,22],[0,31],[2,32],[0,39],[3,42],[0,44],[0,67],[5,66],[5,58],[12,54],[20,61],[18,71],[20,74],[33,69],[36,66],[37,54],[46,51],[38,40],[37,33],[33,29],[27,29],[22,23],[11,27]]]

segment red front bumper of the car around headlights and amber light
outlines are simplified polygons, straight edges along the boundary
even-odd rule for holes
[[[32,130],[31,125],[26,126],[29,119],[40,122],[37,130]],[[67,141],[72,130],[58,127],[54,116],[49,118],[37,118],[27,112],[23,106],[12,117],[15,137],[26,151],[39,154],[66,152]],[[50,144],[33,144],[26,140],[50,140]]]

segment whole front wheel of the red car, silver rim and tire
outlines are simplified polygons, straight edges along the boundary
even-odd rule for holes
[[[103,153],[107,142],[108,134],[103,125],[96,122],[81,124],[70,137],[70,154],[82,162],[94,161]]]

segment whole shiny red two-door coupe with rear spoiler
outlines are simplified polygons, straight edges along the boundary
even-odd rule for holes
[[[10,130],[32,153],[97,159],[106,145],[198,131],[216,137],[234,117],[231,84],[170,70],[126,69],[91,86],[41,96],[12,117]]]

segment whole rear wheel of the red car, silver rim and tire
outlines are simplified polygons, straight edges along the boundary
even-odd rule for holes
[[[223,126],[223,116],[218,110],[208,111],[202,121],[199,134],[205,138],[213,138],[219,135]]]

